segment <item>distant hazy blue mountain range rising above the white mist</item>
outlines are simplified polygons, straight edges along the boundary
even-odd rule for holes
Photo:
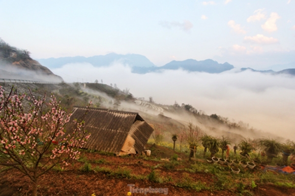
[[[140,54],[116,54],[109,53],[106,55],[97,55],[92,57],[74,56],[60,58],[38,59],[38,61],[49,69],[61,68],[69,63],[91,63],[94,67],[109,66],[112,63],[123,63],[131,67],[133,73],[146,74],[150,72],[159,72],[161,70],[178,70],[182,69],[188,72],[206,72],[206,73],[222,73],[232,70],[234,67],[228,62],[218,63],[212,59],[195,60],[187,59],[183,61],[172,60],[164,66],[157,67],[148,58]],[[252,68],[242,68],[240,71],[251,70],[252,72],[260,72],[265,74],[289,74],[295,75],[295,69],[285,69],[279,72],[273,70],[254,70]]]

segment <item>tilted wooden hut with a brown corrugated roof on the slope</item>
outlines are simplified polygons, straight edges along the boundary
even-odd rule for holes
[[[81,119],[86,110],[84,107],[74,107],[66,130],[73,128],[72,121]],[[91,134],[83,148],[116,155],[141,153],[154,131],[134,112],[89,108],[83,120],[84,129]]]

